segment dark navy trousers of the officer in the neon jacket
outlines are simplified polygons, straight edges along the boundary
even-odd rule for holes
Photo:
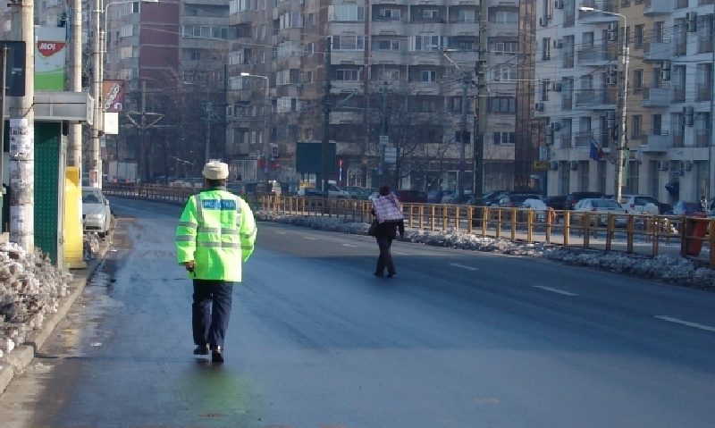
[[[191,321],[194,344],[223,349],[231,317],[231,292],[236,282],[194,280]]]

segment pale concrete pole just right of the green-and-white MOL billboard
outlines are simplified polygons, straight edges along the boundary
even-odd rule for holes
[[[82,91],[82,0],[71,0],[70,27],[70,91]],[[95,118],[95,120],[97,120]],[[67,138],[67,164],[82,170],[82,125],[70,123],[70,135]]]

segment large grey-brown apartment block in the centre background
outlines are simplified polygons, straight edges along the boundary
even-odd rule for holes
[[[512,186],[517,2],[233,0],[230,7],[237,38],[229,48],[226,138],[241,171],[305,180],[297,143],[327,132],[336,147],[330,178],[343,185],[400,180],[403,189],[457,189],[461,164],[472,189],[478,21],[486,13],[484,71],[494,91],[484,189]],[[381,135],[395,164],[383,165]]]

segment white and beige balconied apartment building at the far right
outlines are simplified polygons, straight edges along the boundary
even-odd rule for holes
[[[712,4],[537,0],[534,111],[549,194],[615,194],[618,147],[623,193],[670,202],[707,194]]]

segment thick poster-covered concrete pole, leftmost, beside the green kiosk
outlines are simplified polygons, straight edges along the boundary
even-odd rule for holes
[[[10,105],[10,240],[35,249],[35,29],[32,0],[11,0],[11,38],[27,46],[25,94]]]

